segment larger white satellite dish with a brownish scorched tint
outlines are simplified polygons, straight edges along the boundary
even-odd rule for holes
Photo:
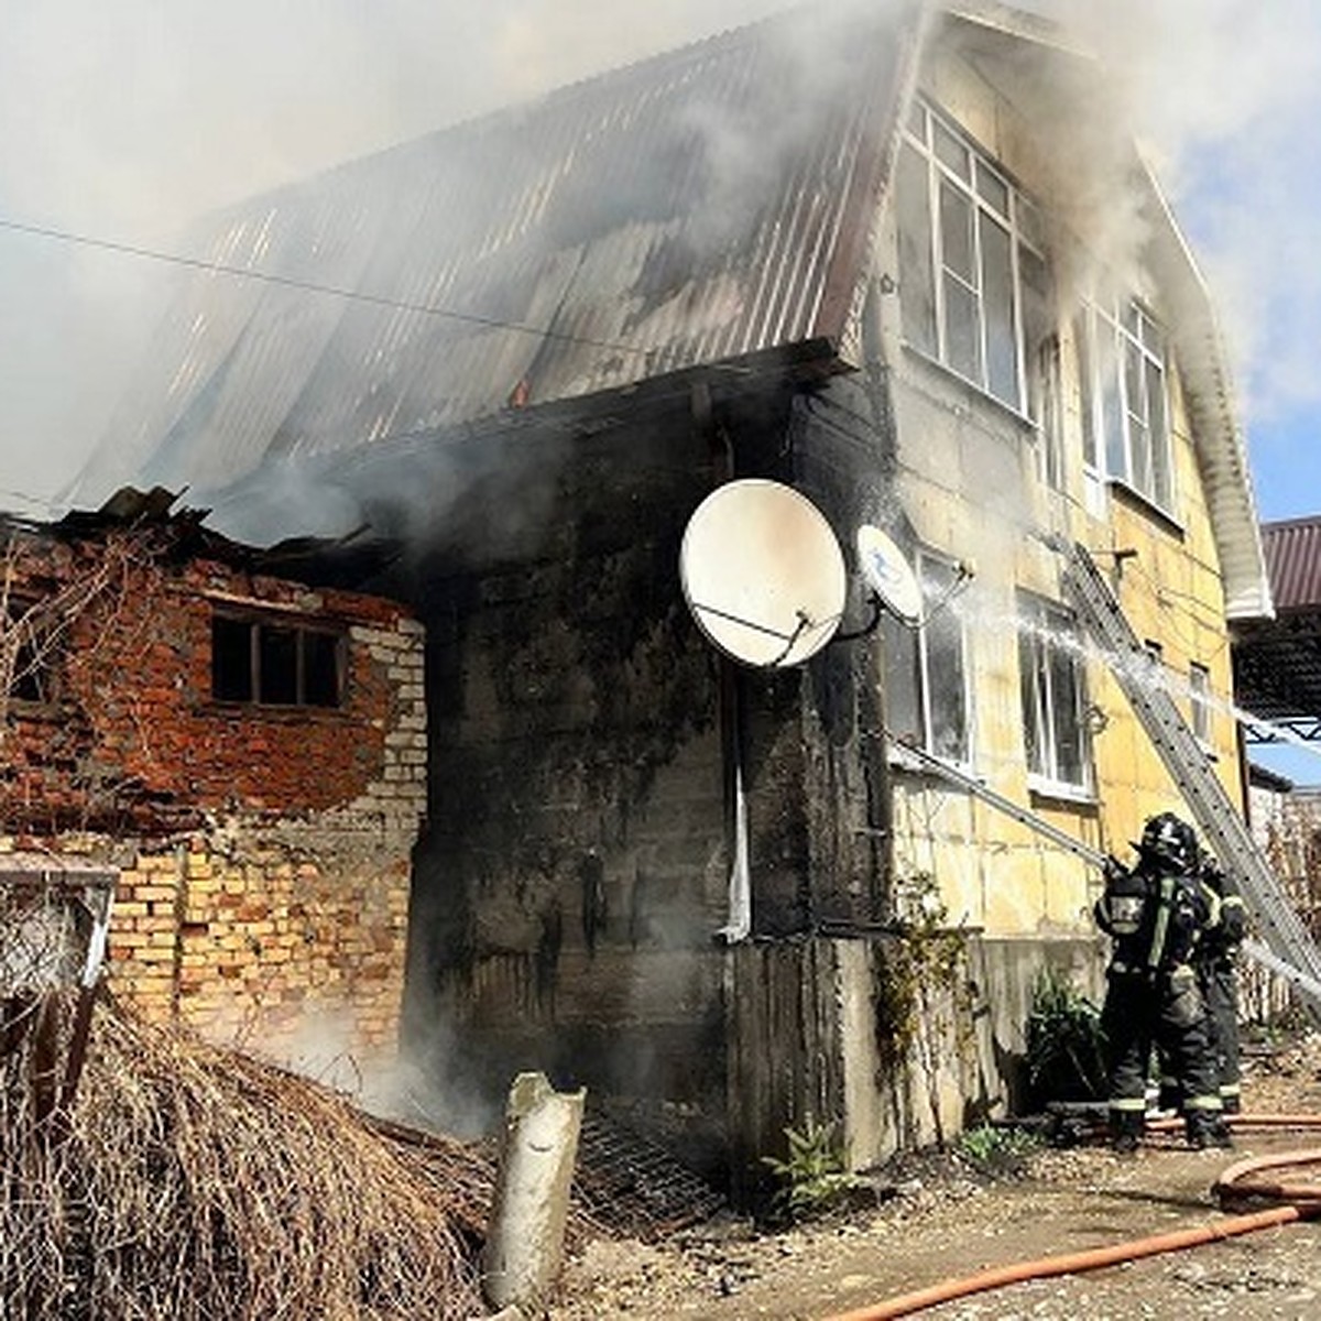
[[[844,556],[822,511],[790,486],[745,478],[694,511],[683,594],[708,641],[744,664],[801,664],[839,627]]]

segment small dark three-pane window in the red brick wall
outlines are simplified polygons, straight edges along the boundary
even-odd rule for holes
[[[338,707],[343,637],[288,620],[215,614],[211,695],[263,707]]]

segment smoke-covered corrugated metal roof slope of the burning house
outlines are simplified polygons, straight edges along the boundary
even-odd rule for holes
[[[235,207],[203,259],[266,280],[188,279],[83,489],[205,491],[834,341],[911,32],[893,8],[781,16]]]

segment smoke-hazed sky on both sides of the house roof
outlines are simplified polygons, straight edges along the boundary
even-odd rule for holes
[[[172,276],[7,225],[180,251],[190,221],[254,192],[782,7],[0,0],[0,506],[40,511],[74,477]],[[1321,513],[1321,4],[1026,7],[1086,29],[1172,196],[1260,517]],[[1321,758],[1285,760],[1321,781]]]

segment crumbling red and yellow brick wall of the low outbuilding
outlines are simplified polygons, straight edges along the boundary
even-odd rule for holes
[[[421,626],[161,527],[8,547],[16,601],[104,583],[59,620],[40,700],[11,680],[0,844],[120,869],[110,983],[149,1013],[291,1061],[392,1049],[425,807]],[[213,614],[238,608],[342,635],[338,704],[217,700]]]

